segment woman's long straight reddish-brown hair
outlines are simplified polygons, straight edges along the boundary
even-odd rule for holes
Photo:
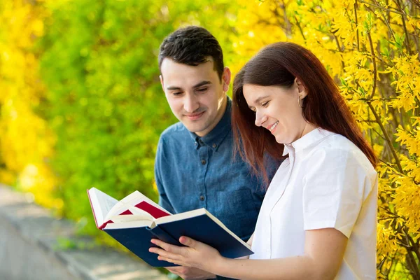
[[[264,155],[281,159],[283,144],[278,144],[268,130],[255,126],[255,113],[248,108],[243,87],[276,85],[290,88],[300,80],[307,97],[302,113],[309,123],[335,132],[353,142],[376,167],[377,156],[367,144],[344,97],[319,59],[295,43],[274,43],[263,48],[237,73],[233,82],[232,129],[235,151],[250,163],[255,174],[268,183]],[[297,101],[296,101],[297,102]]]

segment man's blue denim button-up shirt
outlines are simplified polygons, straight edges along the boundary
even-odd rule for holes
[[[247,241],[265,190],[262,179],[251,175],[239,155],[233,160],[231,107],[228,98],[221,121],[204,137],[189,132],[182,123],[168,127],[158,144],[155,181],[159,204],[171,213],[204,207]]]

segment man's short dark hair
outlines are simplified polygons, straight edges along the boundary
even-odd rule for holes
[[[189,26],[177,29],[169,34],[160,45],[159,69],[163,59],[170,58],[174,62],[197,66],[214,60],[214,70],[217,71],[219,79],[222,79],[223,52],[216,38],[207,29],[197,26]]]

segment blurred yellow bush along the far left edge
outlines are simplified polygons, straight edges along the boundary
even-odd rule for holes
[[[43,97],[34,41],[43,35],[39,3],[0,5],[0,182],[34,193],[36,202],[59,208],[48,167],[54,137],[34,109]]]

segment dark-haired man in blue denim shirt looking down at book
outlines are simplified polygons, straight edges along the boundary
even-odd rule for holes
[[[232,101],[226,95],[231,74],[221,46],[202,27],[178,29],[160,45],[159,66],[162,88],[179,119],[158,144],[160,205],[174,214],[204,207],[248,240],[265,190],[246,162],[233,160]],[[168,269],[184,279],[216,277],[188,267]]]

